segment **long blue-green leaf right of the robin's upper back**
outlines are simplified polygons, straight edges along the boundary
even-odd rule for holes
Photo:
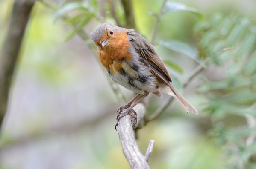
[[[198,55],[197,49],[189,46],[186,43],[182,43],[176,40],[161,40],[159,41],[159,45],[162,45],[175,52],[185,54],[186,56],[190,57],[191,59],[203,65],[203,63],[197,59],[197,55]]]

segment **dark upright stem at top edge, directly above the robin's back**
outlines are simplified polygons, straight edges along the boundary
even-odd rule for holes
[[[121,0],[124,7],[124,15],[127,28],[136,29],[135,17],[133,12],[132,0]]]

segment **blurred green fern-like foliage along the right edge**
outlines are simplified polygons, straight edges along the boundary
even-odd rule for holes
[[[214,129],[210,136],[226,147],[230,165],[253,169],[256,161],[256,25],[247,17],[215,14],[194,28],[199,57],[211,58],[222,66],[224,78],[205,78],[198,91],[207,97],[204,112],[211,116]],[[230,125],[232,116],[247,123]],[[251,140],[252,139],[252,140]],[[238,159],[234,161],[235,159]],[[232,167],[232,168],[233,168]]]

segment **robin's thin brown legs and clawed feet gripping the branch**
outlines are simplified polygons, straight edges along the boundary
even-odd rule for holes
[[[136,106],[141,100],[143,100],[145,97],[147,97],[147,95],[148,95],[149,93],[148,92],[144,92],[144,95],[142,95],[141,96],[141,98],[139,98],[138,100],[136,100],[136,98],[139,96],[139,94],[137,94],[131,101],[132,101],[132,103],[130,103],[130,105],[128,106],[128,107],[126,107],[126,108],[123,108],[122,110],[120,110],[119,112],[118,112],[118,115],[117,115],[117,117],[116,117],[116,119],[117,119],[117,123],[115,124],[115,129],[116,129],[116,127],[118,126],[118,122],[119,122],[119,120],[122,118],[122,117],[124,117],[124,116],[126,116],[126,115],[130,115],[131,117],[132,117],[132,119],[134,119],[134,121],[135,121],[135,123],[134,124],[136,124],[137,123],[137,113],[132,109],[134,106]],[[135,103],[133,103],[134,101],[136,100],[136,102]],[[127,103],[128,104],[128,103]],[[126,105],[125,105],[126,106]],[[124,110],[124,109],[126,109],[126,110]],[[124,111],[123,111],[124,110]],[[133,125],[134,125],[133,124]]]

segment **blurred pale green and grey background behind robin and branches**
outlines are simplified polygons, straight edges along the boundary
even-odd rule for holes
[[[151,40],[163,0],[132,2],[137,31]],[[253,169],[256,1],[168,2],[169,9],[179,3],[185,10],[162,15],[154,45],[168,64],[174,86],[200,113],[186,114],[174,101],[138,130],[141,151],[156,140],[149,160],[153,169]],[[122,4],[114,3],[124,24]],[[1,46],[12,4],[0,1]],[[112,92],[96,46],[74,31],[79,26],[88,35],[102,20],[115,24],[108,4],[35,3],[1,129],[0,169],[129,169],[114,129],[116,109],[124,102]],[[198,65],[203,71],[183,89]],[[134,95],[119,89],[126,100]],[[147,116],[167,99],[150,97]]]

